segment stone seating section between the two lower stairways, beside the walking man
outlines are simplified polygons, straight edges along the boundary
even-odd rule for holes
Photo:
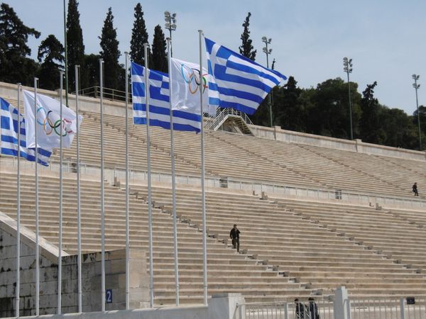
[[[146,196],[146,186],[131,184],[130,187],[138,191],[140,196]],[[158,203],[161,203],[163,209],[171,211],[170,189],[156,187],[152,194],[155,201],[161,198]],[[180,218],[201,225],[200,215],[191,208],[200,205],[200,191],[178,189],[177,198]],[[214,206],[214,209],[209,210],[209,205],[215,201],[233,202],[244,208],[228,211],[227,205],[224,205],[222,209]],[[321,206],[322,203],[317,205]],[[310,283],[310,289],[319,289],[321,286],[335,289],[346,282],[346,278],[353,278],[354,274],[359,275],[354,279],[355,284],[366,285],[366,293],[377,286],[383,287],[383,295],[405,291],[413,279],[418,286],[424,286],[422,275],[416,274],[415,269],[406,269],[388,259],[385,254],[377,254],[353,238],[342,237],[335,229],[322,227],[313,218],[302,216],[296,209],[290,211],[273,201],[261,201],[257,196],[233,196],[219,192],[207,193],[206,206],[209,234],[214,233],[226,245],[230,245],[226,225],[230,228],[233,223],[237,223],[242,232],[241,250],[247,250],[256,259],[271,265],[290,281]],[[350,207],[354,211],[364,211],[361,207]],[[326,279],[329,276],[333,277],[329,283],[313,280],[315,277]],[[398,278],[400,284],[389,285],[390,278]],[[405,279],[410,281],[405,283]]]

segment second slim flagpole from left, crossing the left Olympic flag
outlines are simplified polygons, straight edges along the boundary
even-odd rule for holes
[[[40,262],[38,252],[38,141],[37,141],[37,82],[34,78],[34,154],[35,154],[35,315],[40,315]]]

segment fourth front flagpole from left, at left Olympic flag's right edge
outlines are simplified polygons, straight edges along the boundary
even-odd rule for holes
[[[77,272],[78,272],[78,312],[82,313],[82,214],[80,198],[80,118],[78,115],[78,69],[75,66],[75,115],[76,115],[76,142],[77,142]]]

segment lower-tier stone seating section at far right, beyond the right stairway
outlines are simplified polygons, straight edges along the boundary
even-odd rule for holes
[[[426,261],[426,251],[422,245],[426,240],[424,231],[413,229],[408,223],[401,224],[400,220],[394,220],[386,212],[372,208],[283,199],[278,199],[278,202],[326,228],[333,228],[340,237],[381,257],[381,264],[389,263],[387,273],[411,273],[416,276],[416,286],[425,289],[423,293],[426,292],[426,282],[419,269],[422,265],[424,267]],[[412,231],[409,231],[410,228]],[[408,247],[407,243],[410,241],[417,242],[417,245]],[[408,288],[410,286],[412,285],[407,284]],[[401,293],[404,291],[403,286],[398,289]]]

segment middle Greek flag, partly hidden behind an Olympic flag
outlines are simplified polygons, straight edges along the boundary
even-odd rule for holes
[[[133,123],[146,124],[146,68],[131,63]],[[170,130],[170,89],[168,74],[148,69],[149,125]],[[173,129],[200,131],[200,114],[173,109]]]

